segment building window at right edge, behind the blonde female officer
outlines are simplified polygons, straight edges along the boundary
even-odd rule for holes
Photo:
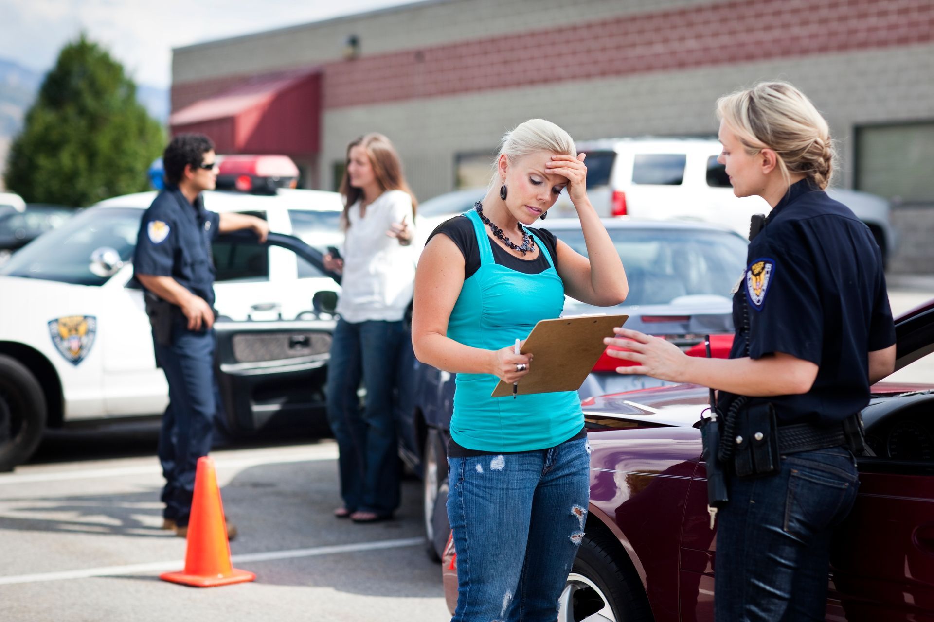
[[[934,206],[934,122],[856,128],[856,189]]]

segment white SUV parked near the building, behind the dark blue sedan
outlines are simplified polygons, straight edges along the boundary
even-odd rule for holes
[[[701,220],[745,236],[749,217],[769,206],[759,197],[733,195],[725,167],[716,159],[715,138],[609,138],[577,143],[587,154],[587,194],[601,216]],[[866,192],[830,188],[831,199],[848,206],[872,231],[884,259],[897,242],[888,200]],[[573,216],[567,197],[552,208]]]

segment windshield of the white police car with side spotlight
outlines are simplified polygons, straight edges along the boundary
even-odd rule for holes
[[[130,261],[142,216],[143,210],[130,207],[85,210],[24,246],[0,269],[0,275],[103,285],[109,277],[91,271],[92,252],[112,248],[121,261]]]

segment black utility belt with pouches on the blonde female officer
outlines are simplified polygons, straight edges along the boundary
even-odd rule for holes
[[[781,469],[781,456],[785,454],[832,447],[860,453],[865,447],[859,413],[830,425],[778,425],[775,408],[769,403],[757,404],[734,416],[736,414],[740,416],[733,428],[733,437],[723,439],[724,443],[733,445],[730,453],[736,477],[773,475]]]

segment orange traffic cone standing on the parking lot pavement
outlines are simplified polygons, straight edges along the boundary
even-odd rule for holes
[[[159,578],[193,587],[226,586],[256,578],[256,574],[237,570],[231,565],[224,507],[220,503],[218,477],[211,458],[198,459],[198,470],[194,476],[185,570],[164,573]]]

